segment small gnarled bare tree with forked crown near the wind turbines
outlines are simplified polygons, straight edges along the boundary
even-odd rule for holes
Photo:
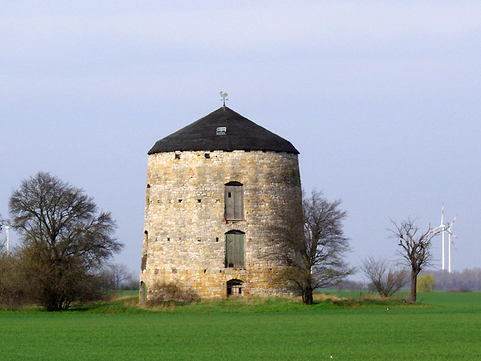
[[[390,229],[392,232],[392,238],[399,240],[399,246],[401,250],[398,251],[399,255],[403,258],[405,263],[411,270],[411,301],[416,302],[416,283],[419,272],[425,267],[428,267],[432,263],[432,239],[438,232],[433,232],[431,226],[425,232],[419,232],[419,227],[414,223],[418,219],[407,219],[402,221],[401,224],[392,221],[394,229]]]

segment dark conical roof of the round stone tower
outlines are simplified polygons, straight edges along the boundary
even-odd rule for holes
[[[217,135],[219,127],[225,127],[226,133]],[[288,140],[227,107],[221,107],[157,141],[148,154],[173,151],[275,151],[299,154]]]

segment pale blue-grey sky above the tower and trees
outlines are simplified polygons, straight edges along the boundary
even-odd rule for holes
[[[390,219],[456,213],[481,267],[481,2],[0,1],[0,214],[49,171],[118,221],[139,273],[147,151],[227,106],[291,141],[304,189],[342,199],[352,265]],[[12,240],[16,239],[12,234]],[[434,244],[440,266],[441,239]]]

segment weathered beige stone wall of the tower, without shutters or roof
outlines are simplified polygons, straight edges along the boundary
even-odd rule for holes
[[[224,218],[224,188],[240,182],[244,220]],[[148,157],[141,281],[148,299],[219,298],[226,283],[248,295],[281,295],[270,255],[280,206],[300,201],[298,156],[262,151],[184,151]],[[300,202],[298,202],[300,204]],[[245,268],[225,267],[225,232],[245,232]]]

